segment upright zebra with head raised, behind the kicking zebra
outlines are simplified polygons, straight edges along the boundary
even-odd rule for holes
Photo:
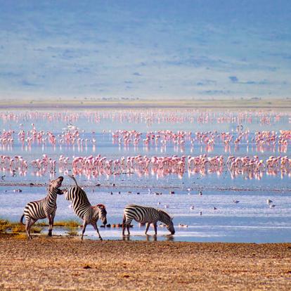
[[[57,195],[62,195],[63,190],[60,190],[62,186],[63,177],[59,176],[58,179],[52,180],[48,185],[48,193],[46,197],[38,200],[28,202],[24,209],[24,214],[22,214],[20,223],[23,224],[23,217],[25,217],[25,230],[27,233],[27,238],[32,239],[30,235],[30,229],[32,225],[39,219],[48,219],[48,236],[51,236],[53,231],[53,219],[56,215],[56,199]]]

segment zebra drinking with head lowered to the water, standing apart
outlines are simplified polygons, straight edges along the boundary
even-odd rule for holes
[[[123,224],[122,224],[122,235],[124,235],[125,228],[127,228],[127,232],[129,233],[129,226],[132,220],[136,220],[141,224],[147,223],[145,228],[145,234],[148,233],[148,228],[150,224],[153,224],[155,228],[155,235],[157,235],[157,221],[162,221],[162,223],[166,224],[167,230],[174,235],[175,229],[173,225],[173,219],[167,212],[162,209],[155,209],[153,207],[145,207],[141,205],[127,205],[124,208],[124,216],[123,216]]]

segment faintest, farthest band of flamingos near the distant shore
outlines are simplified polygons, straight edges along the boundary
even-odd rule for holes
[[[266,111],[238,111],[238,112],[217,112],[211,110],[98,110],[98,111],[70,111],[70,112],[44,112],[44,111],[20,111],[20,112],[0,112],[0,120],[7,122],[62,122],[77,123],[81,119],[86,119],[92,124],[101,124],[105,121],[132,124],[271,124],[278,123],[282,119],[287,119],[291,123],[289,112],[266,112]]]

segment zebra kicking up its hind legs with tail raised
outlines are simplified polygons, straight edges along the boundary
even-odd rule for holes
[[[105,209],[105,205],[91,205],[85,191],[80,188],[77,184],[77,181],[74,176],[68,175],[72,178],[76,186],[73,186],[65,193],[65,199],[70,200],[72,202],[72,208],[75,211],[75,214],[79,216],[80,219],[83,220],[83,230],[82,237],[83,240],[84,232],[86,231],[87,224],[91,224],[93,228],[97,231],[99,239],[102,240],[101,235],[98,231],[97,221],[101,219],[103,224],[107,224],[106,214],[107,211]]]

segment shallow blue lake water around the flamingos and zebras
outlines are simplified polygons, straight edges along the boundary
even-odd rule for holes
[[[282,130],[291,129],[290,119],[289,112],[264,111],[0,112],[0,217],[18,221],[27,202],[44,197],[49,179],[62,175],[65,176],[64,186],[73,185],[66,174],[72,173],[74,157],[101,155],[106,160],[120,160],[122,157],[126,160],[138,155],[149,159],[173,155],[222,156],[224,165],[219,169],[208,167],[190,171],[186,168],[181,174],[153,166],[148,171],[134,168],[119,173],[112,168],[110,172],[79,172],[77,180],[80,186],[84,186],[92,204],[106,205],[110,224],[122,222],[123,209],[130,203],[165,209],[174,216],[176,233],[168,235],[167,229],[159,227],[157,240],[290,242],[289,167],[233,172],[227,164],[230,156],[258,156],[264,165],[270,156],[291,158],[288,134],[284,136],[285,143],[280,142]],[[129,134],[128,141],[119,130],[136,131],[139,140],[134,141],[136,136]],[[79,136],[74,142],[65,140],[68,132],[76,131]],[[183,137],[173,138],[173,134],[179,135],[179,131],[184,132]],[[264,141],[258,145],[256,139],[262,131],[274,131],[274,142]],[[148,142],[145,141],[147,133],[150,136]],[[226,144],[221,133],[228,133],[231,141]],[[23,134],[25,137],[21,140]],[[52,134],[53,142],[50,140]],[[43,155],[56,161],[53,169],[35,166],[33,161],[41,161]],[[67,164],[60,162],[61,155],[68,158]],[[5,160],[3,156],[13,159],[11,167],[8,158]],[[21,156],[27,162],[27,169],[15,162],[15,156]],[[18,192],[19,189],[22,191]],[[174,191],[174,194],[169,194],[169,191]],[[202,195],[198,195],[200,191]],[[272,202],[267,203],[267,200]],[[56,220],[76,218],[70,202],[58,197]],[[119,228],[100,229],[104,239],[122,238]],[[135,223],[130,239],[154,240],[153,236],[143,235],[144,231],[144,227]],[[65,229],[55,230],[55,233],[65,232]],[[149,233],[153,233],[152,228]],[[96,238],[91,226],[88,226],[86,235],[87,238]]]

